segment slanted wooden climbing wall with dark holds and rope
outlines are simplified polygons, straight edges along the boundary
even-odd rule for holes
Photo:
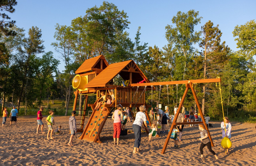
[[[97,142],[100,132],[110,113],[111,110],[109,107],[101,107],[98,110],[94,110],[79,139]]]

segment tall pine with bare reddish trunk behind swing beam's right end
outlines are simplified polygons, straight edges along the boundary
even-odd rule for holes
[[[222,33],[218,28],[219,25],[213,26],[211,21],[208,21],[201,27],[203,38],[199,43],[199,47],[203,49],[201,52],[202,57],[204,57],[204,79],[216,78],[216,72],[222,68],[225,62],[227,62],[229,48],[225,46],[225,41],[220,44],[220,37]],[[215,72],[214,72],[215,71]],[[203,85],[203,99],[202,99],[202,111],[204,114],[204,104],[205,104],[205,92],[207,84]],[[209,89],[208,87],[208,90]]]

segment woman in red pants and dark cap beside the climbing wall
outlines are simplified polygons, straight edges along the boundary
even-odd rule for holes
[[[122,110],[122,105],[117,104],[116,105],[116,110],[114,111],[112,115],[112,119],[114,120],[114,145],[117,144],[119,145],[119,138],[120,138],[120,133],[121,133],[121,122],[123,121],[123,112]]]

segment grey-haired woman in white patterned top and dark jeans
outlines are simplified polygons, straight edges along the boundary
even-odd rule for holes
[[[145,126],[147,126],[147,118],[145,115],[146,107],[144,105],[140,106],[140,111],[136,114],[135,120],[132,124],[132,129],[135,136],[135,142],[133,146],[133,153],[139,153],[140,152],[140,141],[141,141],[141,127],[142,123],[144,122]],[[148,130],[147,127],[144,127],[145,130]]]

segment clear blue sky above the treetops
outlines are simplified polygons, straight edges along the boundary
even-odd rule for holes
[[[85,11],[93,6],[100,6],[101,0],[17,0],[18,4],[14,7],[15,13],[9,14],[16,25],[26,30],[32,26],[37,26],[42,30],[42,39],[44,40],[45,52],[52,51],[56,58],[58,53],[54,51],[51,43],[56,23],[69,26],[72,19],[84,16]],[[238,0],[109,0],[115,4],[118,9],[124,10],[129,16],[131,22],[129,29],[126,31],[134,41],[137,29],[141,26],[140,41],[147,42],[148,46],[158,46],[162,48],[167,44],[165,39],[165,26],[172,25],[172,17],[178,11],[187,12],[194,9],[199,11],[199,16],[203,19],[195,27],[196,31],[201,29],[208,20],[214,25],[219,24],[222,32],[221,41],[236,51],[236,41],[234,41],[233,30],[236,25],[245,24],[247,21],[256,18],[255,6],[256,1],[238,1]],[[64,70],[62,64],[59,66],[60,71]]]

